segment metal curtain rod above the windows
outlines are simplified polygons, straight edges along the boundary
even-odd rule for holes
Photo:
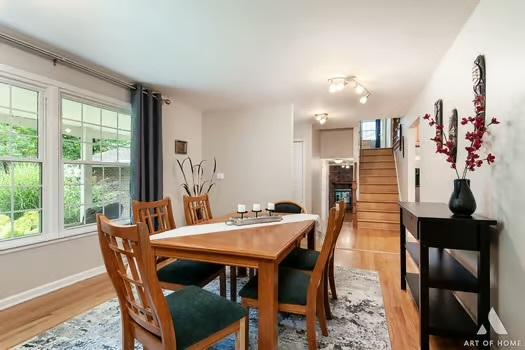
[[[50,50],[47,50],[47,49],[44,49],[40,46],[37,46],[29,41],[26,41],[26,40],[22,40],[22,39],[19,39],[19,38],[16,38],[14,36],[11,36],[9,34],[6,34],[6,33],[2,33],[0,32],[0,39],[12,44],[12,45],[15,45],[15,46],[18,46],[18,47],[21,47],[23,49],[25,49],[26,51],[31,51],[31,52],[34,52],[34,53],[37,53],[41,56],[45,56],[45,57],[48,57],[50,58],[53,63],[56,65],[57,63],[62,63],[64,65],[67,65],[71,68],[74,68],[78,71],[81,71],[81,72],[84,72],[84,73],[87,73],[91,76],[94,76],[94,77],[97,77],[97,78],[100,78],[100,79],[103,79],[107,82],[110,82],[114,85],[118,85],[118,86],[122,86],[122,87],[125,87],[125,88],[128,88],[128,89],[136,89],[136,85],[132,82],[129,82],[129,81],[125,81],[125,80],[122,80],[122,79],[119,79],[117,77],[114,77],[110,74],[107,74],[107,73],[104,73],[102,71],[99,71],[95,68],[91,68],[85,64],[82,64],[80,62],[77,62],[71,58],[68,58],[66,56],[62,56],[62,55],[59,55],[53,51],[50,51]],[[152,93],[157,93],[157,94],[160,94],[160,92],[158,91],[152,91]],[[171,100],[169,98],[164,98],[162,97],[162,100],[163,102],[165,102],[166,104],[170,104],[171,103]]]

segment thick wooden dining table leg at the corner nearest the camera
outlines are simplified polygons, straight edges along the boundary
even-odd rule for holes
[[[278,264],[264,261],[259,265],[259,349],[277,349]]]

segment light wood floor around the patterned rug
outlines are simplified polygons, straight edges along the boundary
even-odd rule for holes
[[[399,233],[355,230],[345,222],[337,244],[336,264],[378,271],[393,350],[418,348],[415,303],[399,287]],[[409,265],[409,271],[415,270]],[[109,279],[94,277],[0,312],[0,349],[7,349],[115,297]],[[464,349],[446,339],[431,338],[432,349]]]

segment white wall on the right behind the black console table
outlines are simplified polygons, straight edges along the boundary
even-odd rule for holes
[[[478,204],[477,213],[494,217],[500,223],[492,254],[492,304],[509,331],[509,338],[521,339],[522,343],[525,341],[523,13],[525,2],[521,0],[480,1],[403,120],[404,125],[411,125],[417,116],[432,114],[434,101],[438,98],[443,99],[446,128],[452,108],[458,109],[460,117],[473,115],[472,64],[478,54],[485,55],[487,117],[497,116],[502,122],[492,129],[487,143],[497,161],[494,166],[483,166],[468,177]],[[460,136],[466,130],[460,126]],[[421,201],[448,202],[454,172],[442,156],[434,153],[433,142],[429,140],[432,136],[433,130],[423,123]],[[459,159],[464,159],[464,146],[462,142]],[[475,269],[475,258],[469,255],[461,255],[461,258],[470,269]],[[464,300],[472,305],[471,299]]]

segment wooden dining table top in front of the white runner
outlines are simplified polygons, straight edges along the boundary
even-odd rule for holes
[[[220,218],[210,220],[217,222]],[[224,220],[224,218],[222,218]],[[300,221],[241,230],[172,237],[151,241],[153,248],[221,253],[275,260],[308,233],[315,221]]]

